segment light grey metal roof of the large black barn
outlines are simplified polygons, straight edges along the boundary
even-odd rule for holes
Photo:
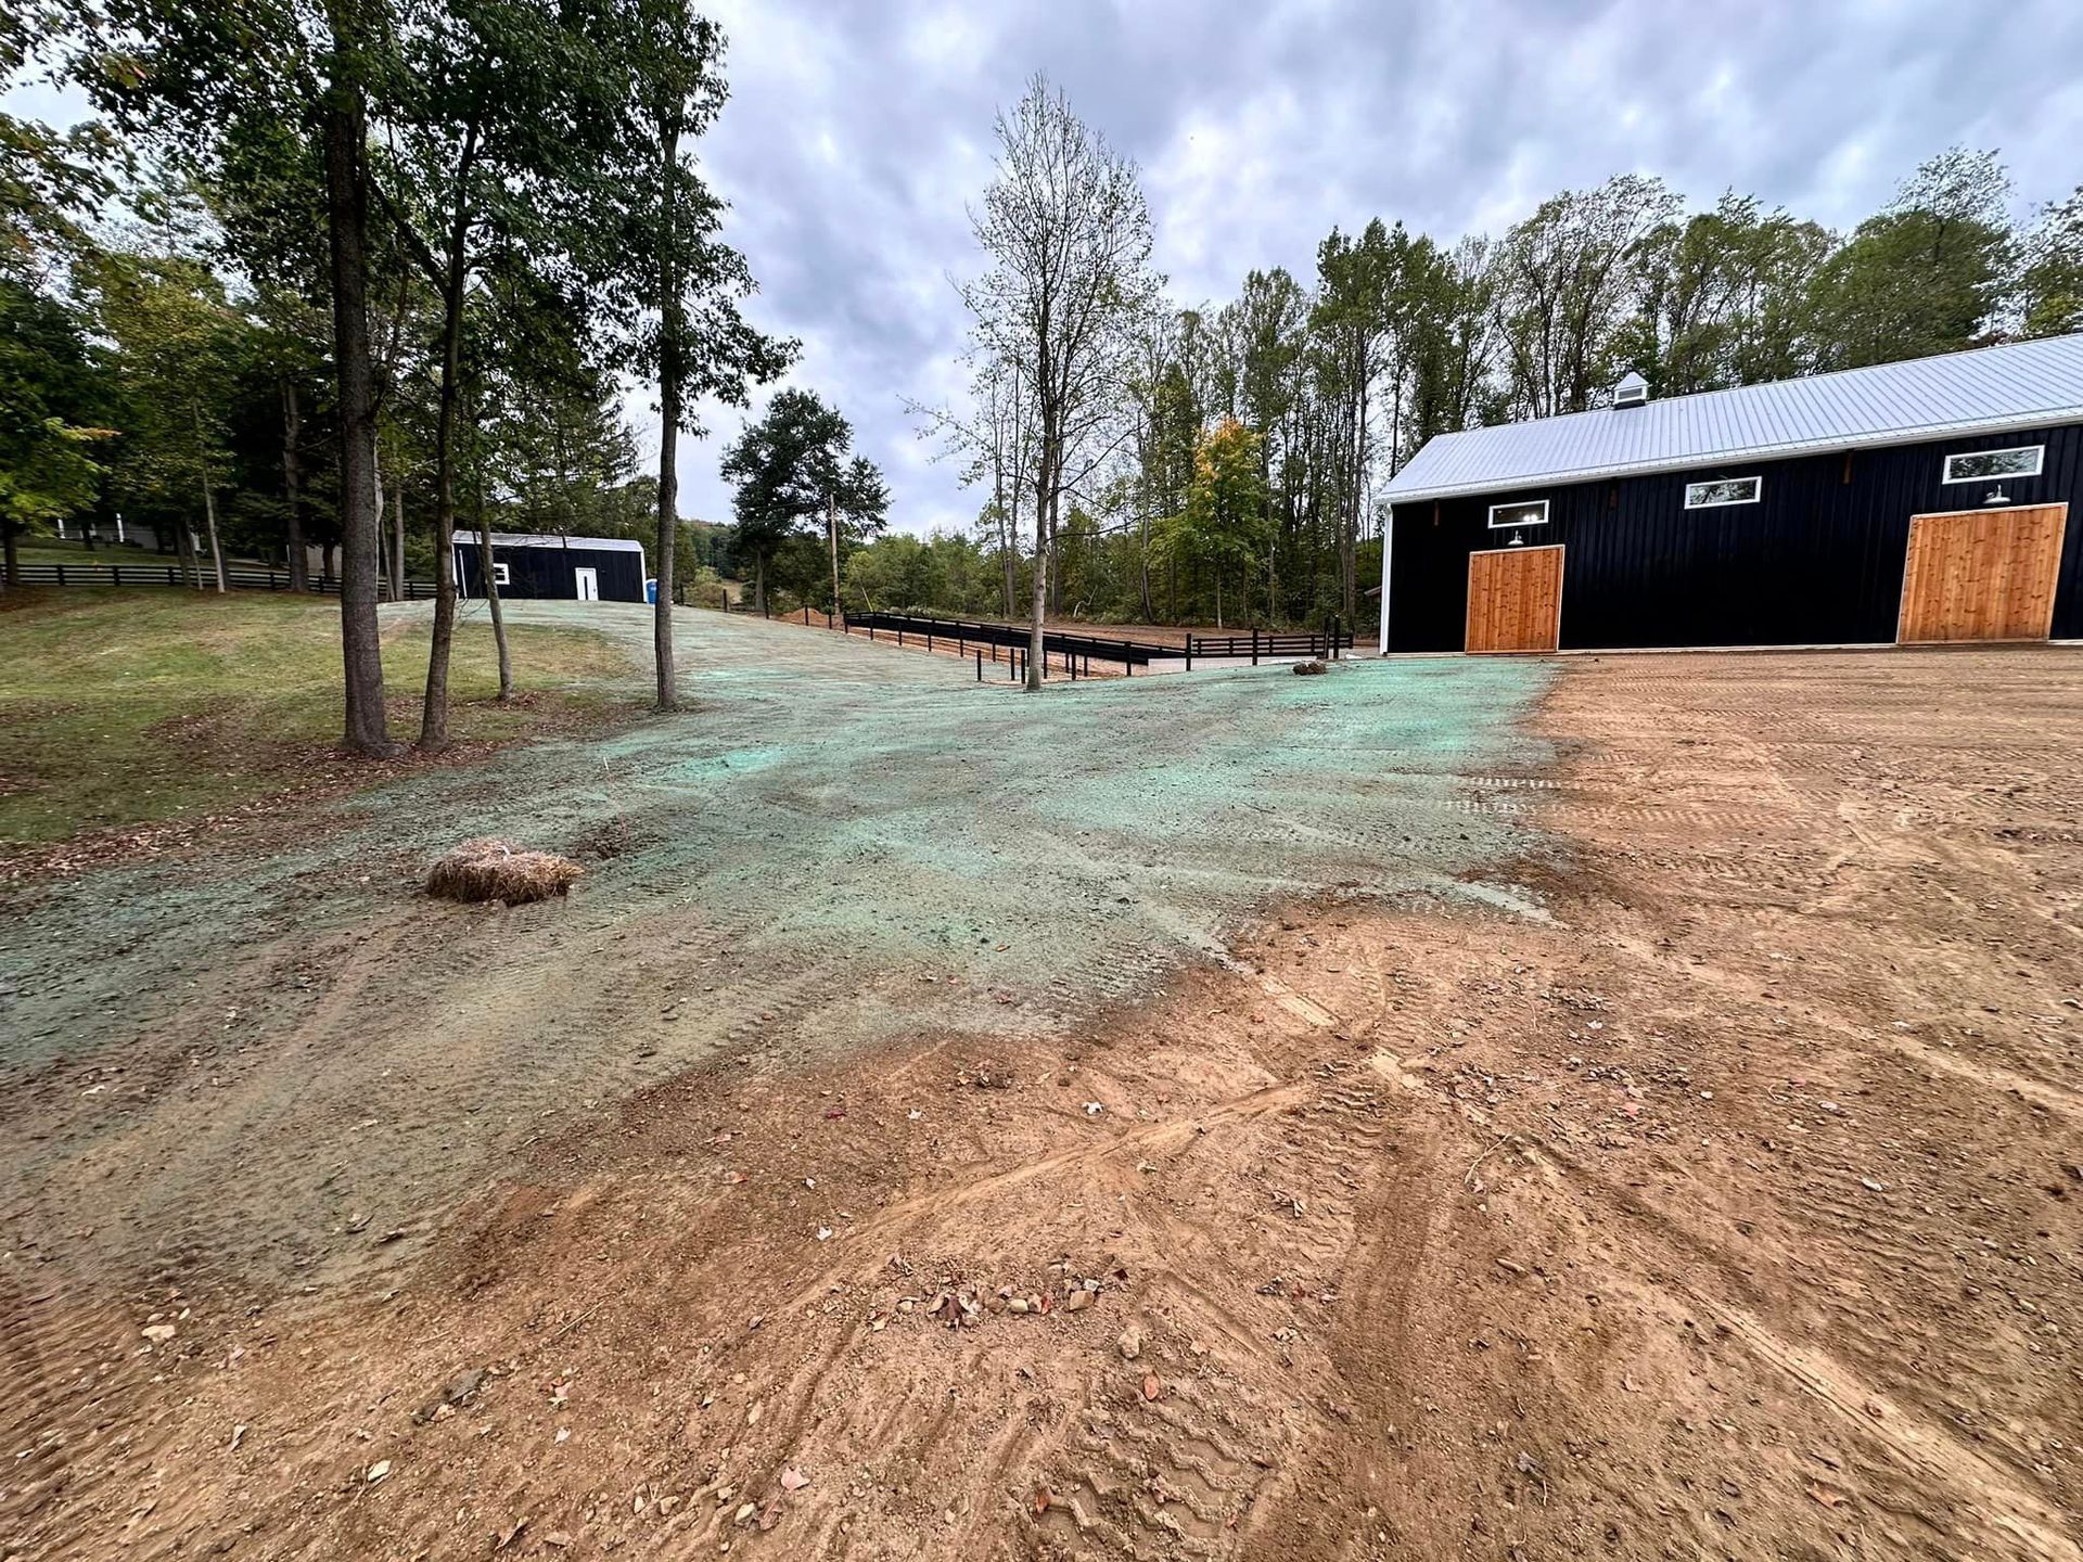
[[[1391,504],[2083,423],[2083,335],[1435,435]]]

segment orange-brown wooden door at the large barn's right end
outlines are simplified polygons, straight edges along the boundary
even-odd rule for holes
[[[1912,517],[1896,639],[2046,639],[2066,527],[2066,504]]]

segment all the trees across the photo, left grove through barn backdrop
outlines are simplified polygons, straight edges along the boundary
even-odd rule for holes
[[[315,558],[362,752],[408,575],[437,583],[419,741],[446,741],[458,537],[644,537],[660,706],[669,604],[717,577],[783,610],[1350,625],[1381,483],[1435,433],[1587,410],[1629,369],[1673,396],[2083,329],[2083,192],[2014,221],[2000,160],[1958,148],[1841,233],[1621,175],[1502,235],[1333,229],[1312,273],[1179,308],[1135,165],[1035,77],[973,208],[969,394],[914,408],[975,525],[889,533],[806,389],[725,450],[729,525],[683,521],[689,408],[796,354],[742,314],[696,162],[723,35],[685,0],[46,2],[0,12],[0,81],[31,65],[100,119],[0,115],[6,575],[21,535],[115,512],[200,585]],[[496,587],[492,616],[504,671]]]

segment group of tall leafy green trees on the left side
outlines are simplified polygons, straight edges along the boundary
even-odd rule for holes
[[[725,100],[712,23],[681,0],[87,0],[0,17],[0,79],[31,65],[100,119],[0,119],[10,577],[19,535],[94,508],[165,527],[204,581],[262,539],[298,585],[306,544],[337,554],[362,754],[392,750],[377,600],[415,566],[437,583],[419,744],[446,744],[458,535],[490,560],[494,517],[648,527],[681,577],[677,435],[796,354],[744,319],[696,162]],[[658,406],[644,477],[631,379]],[[504,691],[496,591],[492,619]]]

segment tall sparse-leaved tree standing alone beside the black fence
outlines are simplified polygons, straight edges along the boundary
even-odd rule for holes
[[[1014,369],[1035,419],[1033,629],[1027,687],[1042,687],[1050,541],[1062,496],[1110,454],[1133,327],[1156,306],[1150,208],[1135,162],[1087,127],[1035,75],[998,117],[998,177],[971,215],[989,271],[962,287],[989,360]]]

